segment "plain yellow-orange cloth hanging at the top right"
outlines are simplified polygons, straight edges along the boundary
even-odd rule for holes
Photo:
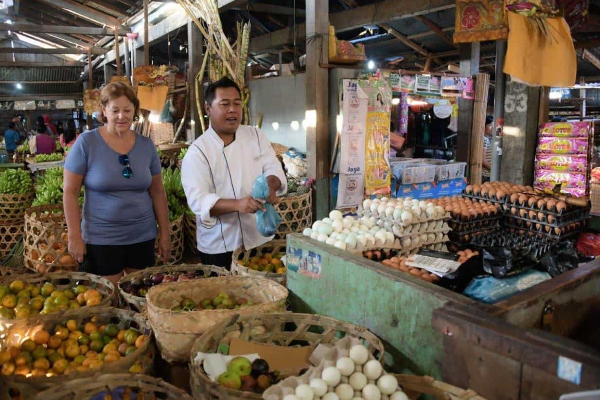
[[[575,85],[577,58],[564,18],[536,21],[509,12],[508,27],[504,73],[530,86]]]

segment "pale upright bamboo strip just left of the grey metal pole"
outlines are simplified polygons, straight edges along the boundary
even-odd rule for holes
[[[481,163],[483,162],[485,115],[489,88],[490,75],[477,74],[475,78],[475,104],[473,105],[473,129],[470,140],[470,184],[481,184]]]

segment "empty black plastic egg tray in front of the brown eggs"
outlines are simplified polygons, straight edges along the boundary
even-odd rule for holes
[[[477,235],[468,242],[471,246],[478,247],[513,247],[515,249],[527,249],[533,256],[539,258],[555,242],[547,236],[521,235],[511,232],[506,228],[499,228],[486,235]]]

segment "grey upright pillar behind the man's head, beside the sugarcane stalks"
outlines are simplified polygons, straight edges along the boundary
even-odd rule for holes
[[[200,29],[191,20],[188,21],[188,88],[190,88],[190,135],[186,137],[188,141],[193,141],[202,135],[202,123],[200,119],[204,115],[204,92],[199,93],[200,105],[202,110],[196,106],[196,75],[202,67],[204,38]]]

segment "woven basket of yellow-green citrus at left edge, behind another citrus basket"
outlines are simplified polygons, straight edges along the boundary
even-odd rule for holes
[[[0,285],[10,285],[13,280],[22,280],[33,285],[43,284],[44,282],[50,282],[55,285],[56,289],[63,290],[67,288],[73,288],[76,285],[85,285],[88,288],[97,289],[102,294],[102,301],[95,308],[98,307],[110,307],[116,305],[117,294],[115,285],[110,280],[85,272],[52,272],[47,274],[31,273],[31,274],[10,274],[7,276],[0,277]],[[89,310],[91,308],[82,307],[82,311]],[[59,315],[58,312],[53,312],[49,315]],[[35,321],[40,318],[39,315],[34,315],[25,321]],[[0,338],[4,335],[7,330],[19,323],[22,320],[8,320],[7,318],[0,318]]]

